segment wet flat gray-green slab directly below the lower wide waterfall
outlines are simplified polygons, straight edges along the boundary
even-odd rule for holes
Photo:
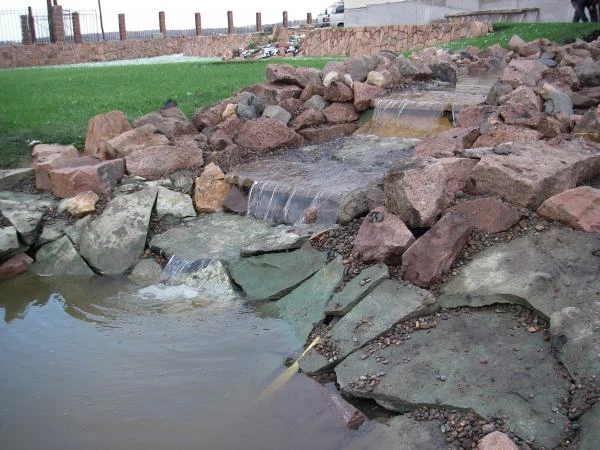
[[[167,256],[195,261],[216,258],[224,261],[239,259],[240,249],[268,236],[272,227],[257,219],[235,214],[201,214],[152,238],[150,247]]]

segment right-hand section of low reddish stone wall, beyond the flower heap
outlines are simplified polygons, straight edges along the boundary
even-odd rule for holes
[[[374,55],[382,50],[399,52],[446,44],[490,31],[489,22],[316,29],[302,42],[301,53],[304,56]]]

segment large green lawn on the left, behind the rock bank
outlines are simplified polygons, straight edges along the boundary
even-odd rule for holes
[[[191,117],[197,108],[264,81],[265,65],[273,62],[0,70],[0,168],[27,165],[27,143],[34,139],[82,149],[96,114],[120,110],[133,121],[173,99]],[[322,69],[326,62],[298,58],[292,64]]]

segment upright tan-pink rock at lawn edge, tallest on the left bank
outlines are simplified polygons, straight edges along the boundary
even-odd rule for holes
[[[83,153],[104,159],[106,142],[128,130],[131,130],[131,124],[121,111],[111,111],[92,117],[88,122]]]

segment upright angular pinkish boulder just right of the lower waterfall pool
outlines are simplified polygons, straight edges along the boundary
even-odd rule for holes
[[[385,205],[411,228],[430,227],[445,207],[444,167],[433,158],[415,158],[386,172]]]

